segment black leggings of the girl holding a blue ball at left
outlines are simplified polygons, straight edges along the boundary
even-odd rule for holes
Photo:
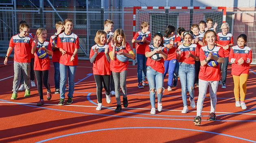
[[[43,100],[43,85],[46,87],[47,92],[51,92],[50,84],[48,82],[49,70],[37,71],[35,70],[37,78],[37,90],[39,93],[40,100]]]

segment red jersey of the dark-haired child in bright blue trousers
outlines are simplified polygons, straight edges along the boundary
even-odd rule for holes
[[[171,36],[171,37],[169,37],[169,38],[167,38],[167,37],[164,37],[164,46],[165,46],[165,48],[166,48],[166,45],[167,44],[170,44],[170,41],[172,40],[172,41],[175,41],[175,37],[176,37],[176,35],[174,35],[174,36]],[[175,45],[175,44],[174,44]],[[175,47],[173,47],[173,48],[166,48],[167,49],[167,52],[168,52],[168,57],[167,57],[167,59],[165,59],[165,61],[167,61],[167,60],[172,60],[172,59],[176,59],[176,57],[177,57],[177,54],[176,54],[176,48]]]

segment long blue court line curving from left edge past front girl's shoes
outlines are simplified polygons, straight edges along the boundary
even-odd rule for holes
[[[2,100],[2,99],[0,99],[0,101],[11,102],[11,101]],[[29,106],[29,107],[35,107],[35,108],[41,108],[41,109],[50,109],[50,110],[55,110],[55,111],[64,111],[64,112],[70,112],[70,113],[78,113],[78,114],[89,114],[89,115],[111,116],[111,117],[123,117],[123,118],[137,118],[137,119],[193,121],[193,120],[190,120],[190,119],[148,118],[148,117],[133,117],[133,116],[119,116],[119,115],[108,115],[108,114],[95,114],[95,113],[87,113],[87,112],[79,112],[79,111],[69,111],[69,110],[53,109],[53,108],[48,108],[48,107],[33,106],[33,105],[27,105],[27,104],[23,104],[23,103],[15,103],[15,104]],[[208,120],[202,120],[202,121],[208,121]],[[221,122],[256,122],[256,120],[216,120],[216,121],[221,121]]]

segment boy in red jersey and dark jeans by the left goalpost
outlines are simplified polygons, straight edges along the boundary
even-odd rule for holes
[[[143,21],[141,23],[141,31],[137,32],[135,36],[132,38],[132,43],[137,43],[136,53],[138,65],[138,88],[144,88],[144,86],[148,86],[148,83],[145,82],[145,78],[147,76],[147,57],[145,57],[145,47],[151,42],[151,33],[149,31],[149,26],[149,22]],[[139,36],[142,37],[142,39],[137,40]]]

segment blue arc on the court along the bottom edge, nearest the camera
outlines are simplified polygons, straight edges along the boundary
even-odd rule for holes
[[[62,138],[62,137],[67,137],[67,136],[72,136],[72,135],[78,135],[78,134],[83,134],[83,133],[87,133],[87,132],[98,132],[98,131],[102,131],[102,130],[120,130],[120,129],[137,129],[137,128],[150,128],[150,129],[156,129],[156,128],[161,128],[161,129],[174,129],[174,130],[189,130],[189,131],[196,131],[196,132],[206,132],[206,133],[210,133],[210,134],[215,134],[215,135],[222,135],[222,136],[227,136],[227,137],[232,137],[232,138],[236,138],[236,139],[241,139],[244,141],[250,141],[253,143],[256,143],[256,141],[252,141],[249,139],[245,139],[245,138],[241,138],[241,137],[236,137],[236,136],[232,136],[232,135],[227,135],[227,134],[222,134],[222,133],[218,133],[218,132],[210,132],[210,131],[206,131],[206,130],[194,130],[194,129],[189,129],[189,128],[171,128],[171,127],[124,127],[124,128],[104,128],[104,129],[98,129],[98,130],[88,130],[88,131],[84,131],[84,132],[76,132],[76,133],[72,133],[72,134],[67,134],[67,135],[62,135],[62,136],[58,136],[58,137],[53,137],[50,139],[45,139],[42,141],[38,141],[36,143],[43,143],[45,141],[50,141],[53,139],[58,139],[58,138]]]

